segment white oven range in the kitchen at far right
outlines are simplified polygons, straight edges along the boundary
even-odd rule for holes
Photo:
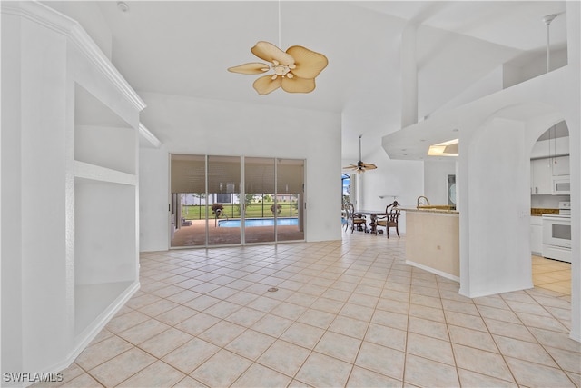
[[[559,214],[543,214],[543,256],[571,263],[571,203],[559,203]]]

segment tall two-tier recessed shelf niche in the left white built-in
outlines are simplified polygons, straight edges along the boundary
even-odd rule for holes
[[[74,333],[94,330],[138,281],[137,129],[75,84]]]

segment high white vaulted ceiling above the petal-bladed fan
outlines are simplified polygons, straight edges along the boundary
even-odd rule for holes
[[[557,14],[551,44],[566,42],[564,1],[127,1],[99,2],[113,34],[112,61],[143,95],[168,95],[150,104],[143,124],[163,138],[187,126],[179,114],[156,120],[172,95],[275,104],[341,113],[343,158],[377,152],[381,137],[401,126],[400,37],[409,21],[419,24],[417,59],[419,117],[446,104],[498,65],[542,55],[547,28]],[[280,7],[280,13],[279,13]],[[281,24],[279,25],[279,15]],[[256,78],[226,71],[254,62],[260,40],[304,45],[329,58],[306,95],[277,90],[257,95]],[[159,99],[156,99],[159,101]]]

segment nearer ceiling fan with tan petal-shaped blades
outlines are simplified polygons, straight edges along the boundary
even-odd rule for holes
[[[263,75],[254,81],[253,87],[259,95],[268,95],[278,88],[288,93],[310,93],[315,90],[315,78],[329,64],[325,55],[301,45],[293,45],[284,52],[276,45],[260,41],[251,52],[270,65],[254,62],[229,67],[228,71],[260,75],[272,70],[274,74]]]

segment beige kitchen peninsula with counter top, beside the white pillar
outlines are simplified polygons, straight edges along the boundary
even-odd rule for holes
[[[406,216],[406,263],[460,281],[456,210],[400,207]]]

